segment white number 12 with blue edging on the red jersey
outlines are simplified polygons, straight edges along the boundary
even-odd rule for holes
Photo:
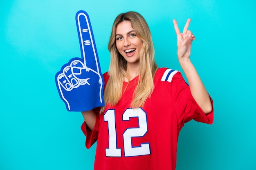
[[[132,147],[132,137],[143,137],[148,131],[146,113],[141,109],[126,109],[123,114],[123,121],[129,121],[130,118],[137,117],[139,121],[138,128],[128,128],[123,133],[124,156],[133,157],[141,155],[150,155],[149,143],[143,143],[141,146]],[[107,157],[121,157],[121,148],[117,148],[117,131],[115,121],[115,110],[108,110],[104,115],[104,121],[108,122],[109,148],[106,148]]]

